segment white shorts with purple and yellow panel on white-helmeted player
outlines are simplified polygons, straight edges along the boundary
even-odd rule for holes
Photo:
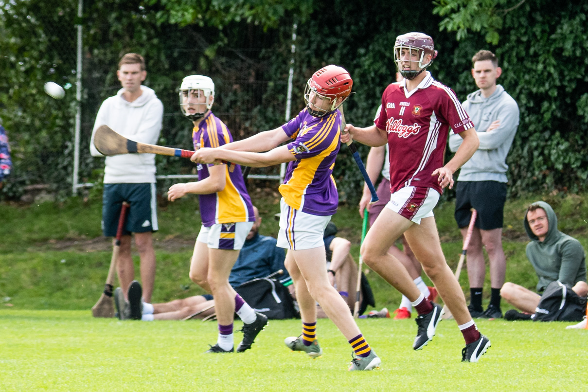
[[[196,241],[212,249],[240,250],[253,222],[219,223],[211,227],[202,226]]]

